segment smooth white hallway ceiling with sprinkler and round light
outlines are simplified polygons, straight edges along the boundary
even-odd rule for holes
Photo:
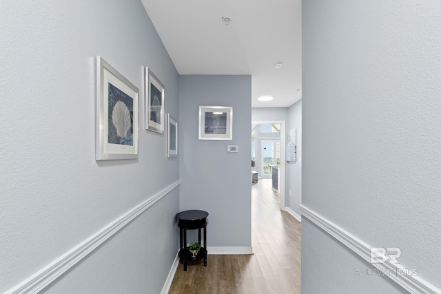
[[[251,74],[252,107],[302,98],[301,0],[141,2],[179,74]]]

